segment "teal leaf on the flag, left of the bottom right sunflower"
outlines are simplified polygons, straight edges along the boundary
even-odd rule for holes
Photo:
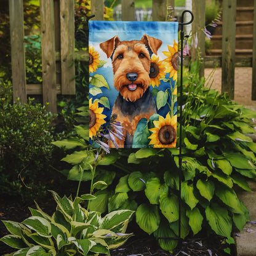
[[[134,140],[132,142],[132,148],[145,148],[150,142],[150,132],[148,130],[148,119],[142,118],[137,124],[137,128],[134,132]]]

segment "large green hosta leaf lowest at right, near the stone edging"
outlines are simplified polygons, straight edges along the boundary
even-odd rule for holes
[[[230,238],[232,220],[228,215],[228,210],[218,204],[212,204],[206,208],[206,219],[216,234]]]

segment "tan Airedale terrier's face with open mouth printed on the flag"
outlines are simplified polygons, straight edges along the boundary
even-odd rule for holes
[[[111,57],[114,87],[122,97],[135,102],[142,97],[150,84],[150,57],[157,55],[162,41],[145,34],[140,41],[120,41],[114,36],[100,44],[108,58]]]

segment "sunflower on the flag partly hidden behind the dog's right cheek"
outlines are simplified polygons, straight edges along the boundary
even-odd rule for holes
[[[159,57],[153,55],[150,63],[150,80],[151,86],[159,86],[160,78],[164,78],[166,76],[166,66],[162,64],[163,61],[159,62]]]

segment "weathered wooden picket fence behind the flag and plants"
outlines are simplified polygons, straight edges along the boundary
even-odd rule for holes
[[[135,0],[121,0],[122,20],[135,20]],[[222,92],[234,98],[234,67],[252,67],[252,100],[256,100],[256,0],[254,0],[254,49],[252,57],[235,57],[236,0],[222,0],[223,34],[222,57],[204,55],[205,35],[200,30],[205,25],[205,0],[193,0],[193,33],[198,31],[198,48],[191,50],[192,59],[201,52],[202,69],[222,66]],[[174,6],[175,0],[152,0],[154,21],[165,21],[167,6]],[[42,94],[43,103],[50,103],[50,111],[57,112],[57,94],[75,93],[74,60],[87,52],[74,53],[74,0],[40,0],[42,84],[26,84],[23,0],[9,0],[10,38],[12,46],[12,82],[14,99],[26,102],[27,95]],[[91,0],[91,12],[96,20],[103,20],[104,1]],[[186,58],[185,63],[188,62]]]

